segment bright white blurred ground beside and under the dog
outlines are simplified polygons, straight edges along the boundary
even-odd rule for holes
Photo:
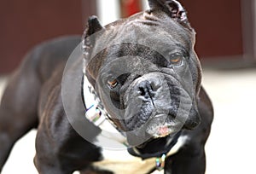
[[[3,81],[0,78],[0,94]],[[203,84],[215,110],[206,147],[207,174],[256,173],[256,68],[206,70]],[[35,135],[31,131],[16,143],[2,174],[37,173],[32,163]]]

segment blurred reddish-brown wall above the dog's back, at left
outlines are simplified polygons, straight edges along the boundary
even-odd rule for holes
[[[94,0],[84,1],[85,7],[79,0],[0,1],[0,73],[17,67],[26,51],[45,39],[81,35],[83,15],[96,11]]]

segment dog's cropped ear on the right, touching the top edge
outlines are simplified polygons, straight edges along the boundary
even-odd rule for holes
[[[150,9],[158,9],[168,14],[172,19],[189,26],[186,10],[176,0],[148,0]],[[189,26],[190,27],[190,26]]]

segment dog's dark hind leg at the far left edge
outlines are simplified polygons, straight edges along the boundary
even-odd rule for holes
[[[9,78],[0,105],[0,173],[15,142],[38,125],[41,83],[28,57]]]

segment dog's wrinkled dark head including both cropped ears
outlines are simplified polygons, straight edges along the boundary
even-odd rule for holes
[[[87,76],[132,146],[200,123],[195,32],[179,3],[162,2],[105,27],[91,18],[86,33]]]

